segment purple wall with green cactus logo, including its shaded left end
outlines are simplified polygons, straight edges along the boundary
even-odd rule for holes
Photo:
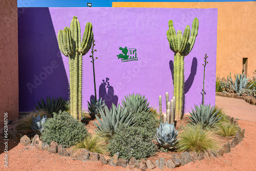
[[[106,94],[109,99],[113,97],[110,101],[117,102],[118,98],[119,103],[124,95],[141,93],[158,108],[158,96],[162,95],[164,112],[165,92],[173,95],[170,68],[174,53],[166,37],[168,20],[173,20],[176,32],[183,32],[185,26],[191,28],[194,17],[198,17],[198,36],[193,50],[185,57],[185,113],[202,101],[205,53],[209,56],[205,103],[215,104],[217,9],[26,8],[18,18],[19,111],[33,109],[40,96],[68,98],[68,57],[60,55],[56,37],[60,29],[70,26],[74,15],[80,22],[81,34],[87,22],[93,24],[95,56],[98,57],[95,63],[97,96],[102,79],[108,77],[116,96],[113,97],[113,92],[106,94],[108,89],[104,86],[100,94]],[[137,49],[138,61],[121,62],[116,56],[121,53],[119,47]],[[89,52],[83,56],[83,109],[87,109],[87,100],[94,94],[90,55]],[[47,66],[50,74],[45,72]],[[35,82],[38,86],[34,84],[36,76],[44,78]]]

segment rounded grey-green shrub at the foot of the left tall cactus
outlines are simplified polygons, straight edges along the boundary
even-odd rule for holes
[[[42,141],[48,144],[55,141],[63,147],[69,147],[88,136],[86,126],[67,112],[53,113],[53,118],[47,119],[44,126]]]

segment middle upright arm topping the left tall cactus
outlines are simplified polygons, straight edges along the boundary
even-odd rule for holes
[[[74,16],[70,24],[71,35],[75,41],[74,49],[77,51],[80,49],[81,44],[81,28],[77,16]]]

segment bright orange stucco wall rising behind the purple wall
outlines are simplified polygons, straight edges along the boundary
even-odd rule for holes
[[[120,2],[112,3],[112,7],[218,8],[216,75],[227,78],[230,72],[232,77],[242,73],[243,58],[248,58],[247,76],[255,76],[256,2]]]

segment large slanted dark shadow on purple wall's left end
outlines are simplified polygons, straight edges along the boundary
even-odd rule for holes
[[[49,8],[18,8],[19,111],[34,109],[42,96],[68,100],[69,82]]]

